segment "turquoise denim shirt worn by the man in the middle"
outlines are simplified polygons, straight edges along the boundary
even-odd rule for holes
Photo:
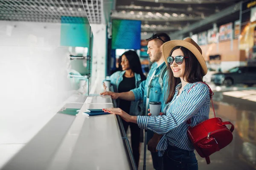
[[[140,83],[139,88],[132,89],[131,91],[134,93],[135,100],[143,100],[143,111],[145,111],[146,106],[146,100],[147,100],[147,93],[148,93],[148,84],[152,77],[152,74],[155,72],[154,75],[160,74],[161,69],[166,63],[163,62],[159,67],[157,67],[157,63],[154,62],[151,66],[151,69],[148,73],[148,77],[146,80]],[[153,76],[154,76],[153,75]],[[168,79],[167,79],[167,71],[164,74],[163,77],[163,89],[167,89],[168,86]],[[163,90],[165,91],[165,90]],[[155,77],[152,80],[152,87],[150,89],[150,95],[149,95],[149,102],[162,102],[161,111],[163,111],[163,108],[165,108],[165,99],[164,99],[164,93],[162,92],[162,89],[160,87],[160,84],[158,82],[158,77]],[[147,106],[149,108],[149,106]],[[147,113],[146,113],[147,115]]]

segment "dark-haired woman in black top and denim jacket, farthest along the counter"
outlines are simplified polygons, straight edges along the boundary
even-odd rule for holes
[[[135,51],[125,51],[119,58],[122,71],[116,71],[108,80],[113,85],[114,92],[122,93],[130,91],[140,86],[140,82],[146,79],[143,74],[140,58]],[[122,108],[126,113],[130,113],[133,116],[143,115],[143,101],[127,101],[118,99],[116,101],[116,107]],[[131,147],[137,166],[140,159],[140,127],[135,123],[122,121],[125,132],[130,126],[131,130]]]

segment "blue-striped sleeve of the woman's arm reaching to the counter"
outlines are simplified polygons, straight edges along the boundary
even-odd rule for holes
[[[207,99],[209,99],[209,88],[207,85],[198,85],[189,91],[186,99],[179,104],[173,113],[167,116],[146,116],[147,118],[138,116],[137,123],[140,128],[149,129],[158,134],[167,133],[198,113]]]

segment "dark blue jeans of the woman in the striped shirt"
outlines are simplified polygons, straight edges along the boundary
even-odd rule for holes
[[[168,145],[163,155],[164,170],[198,170],[194,151],[183,150]]]

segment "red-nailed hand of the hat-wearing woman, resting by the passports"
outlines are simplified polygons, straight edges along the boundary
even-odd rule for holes
[[[121,116],[121,118],[124,119],[125,122],[132,122],[132,123],[137,124],[137,116],[131,116],[120,108],[106,108],[106,109],[102,109],[102,110],[104,112],[108,112],[111,114],[117,114],[117,115]]]

